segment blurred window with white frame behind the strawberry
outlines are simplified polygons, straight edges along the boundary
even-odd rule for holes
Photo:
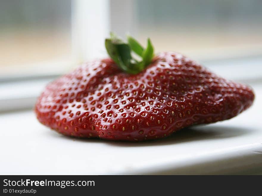
[[[32,107],[46,83],[107,56],[111,30],[143,44],[150,37],[157,52],[183,53],[224,77],[257,80],[261,8],[261,0],[1,0],[0,110]]]

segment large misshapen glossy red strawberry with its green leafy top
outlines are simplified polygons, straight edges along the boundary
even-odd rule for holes
[[[221,78],[179,53],[153,55],[129,37],[106,39],[111,58],[88,62],[38,98],[38,120],[64,135],[108,140],[163,138],[193,124],[233,118],[252,89]],[[140,56],[134,59],[131,51]]]

